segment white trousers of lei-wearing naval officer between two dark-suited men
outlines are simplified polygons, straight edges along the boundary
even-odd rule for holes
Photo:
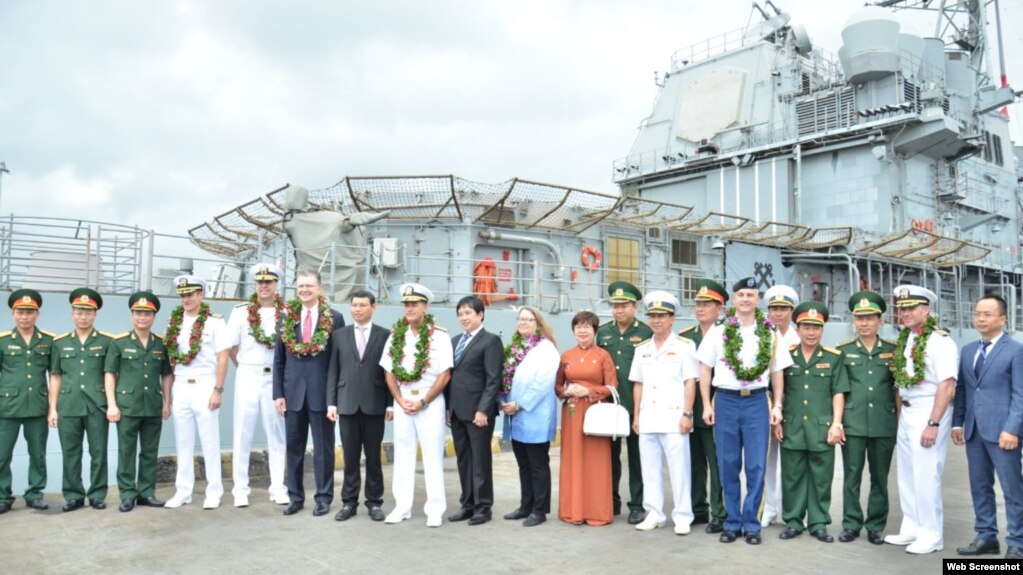
[[[421,398],[427,390],[412,390],[402,386],[402,396]],[[416,444],[422,449],[422,473],[426,476],[427,503],[422,511],[428,518],[440,518],[447,510],[444,493],[444,436],[446,434],[444,396],[434,401],[415,415],[406,415],[400,407],[394,409],[394,476],[391,491],[394,493],[395,512],[410,514],[415,489]]]

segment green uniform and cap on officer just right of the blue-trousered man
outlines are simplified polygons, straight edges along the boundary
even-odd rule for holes
[[[824,316],[827,310],[816,302],[806,302],[793,313],[797,323],[806,310]],[[849,392],[842,352],[817,346],[809,360],[801,346],[791,348],[793,365],[785,370],[785,400],[782,441],[782,520],[797,532],[803,531],[803,517],[811,533],[831,523],[831,490],[835,477],[835,447],[828,445],[828,431],[834,423],[832,399]]]

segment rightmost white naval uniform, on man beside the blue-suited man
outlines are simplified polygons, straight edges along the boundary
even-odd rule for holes
[[[905,344],[906,373],[914,373],[913,344],[916,334],[909,334]],[[902,507],[899,536],[915,538],[916,545],[944,545],[941,506],[941,473],[945,468],[948,438],[951,435],[951,402],[941,417],[938,438],[932,447],[920,444],[934,408],[938,383],[959,375],[959,350],[948,336],[934,331],[924,350],[924,381],[909,389],[899,389],[899,395],[909,405],[902,405],[896,436],[898,496]]]

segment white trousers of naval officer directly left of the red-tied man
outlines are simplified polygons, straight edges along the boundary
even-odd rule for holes
[[[266,444],[270,451],[270,497],[287,498],[284,486],[284,416],[273,404],[273,373],[262,365],[238,365],[234,378],[234,441],[232,478],[235,496],[248,496],[249,459],[256,435],[256,423],[262,418]]]

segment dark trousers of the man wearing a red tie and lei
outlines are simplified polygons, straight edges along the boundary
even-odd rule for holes
[[[284,412],[284,434],[287,441],[287,474],[284,483],[292,502],[305,502],[303,475],[309,432],[313,435],[313,481],[316,501],[333,501],[333,423],[326,411],[301,409]]]

